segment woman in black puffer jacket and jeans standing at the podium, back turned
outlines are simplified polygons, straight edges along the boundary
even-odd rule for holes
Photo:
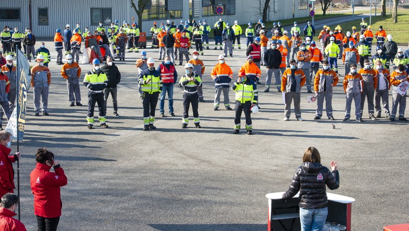
[[[315,147],[305,150],[303,165],[295,171],[290,188],[282,200],[291,199],[298,191],[302,231],[322,231],[328,215],[325,185],[334,190],[339,187],[337,163],[331,161],[331,172],[320,164],[321,157]]]

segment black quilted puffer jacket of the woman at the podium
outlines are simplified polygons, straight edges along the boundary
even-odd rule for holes
[[[328,206],[326,187],[334,190],[339,187],[338,170],[329,171],[325,166],[317,162],[304,162],[295,171],[290,188],[282,195],[282,200],[291,199],[298,191],[300,208],[320,209]]]

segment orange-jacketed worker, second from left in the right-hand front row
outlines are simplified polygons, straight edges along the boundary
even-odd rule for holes
[[[317,95],[317,111],[314,119],[319,120],[322,116],[322,105],[325,98],[325,112],[329,120],[335,120],[332,116],[332,88],[338,83],[338,75],[329,69],[328,60],[322,61],[322,69],[318,70],[314,79],[314,91]]]

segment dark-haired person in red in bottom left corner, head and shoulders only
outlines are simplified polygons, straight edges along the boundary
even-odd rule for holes
[[[1,197],[0,207],[0,230],[2,231],[27,231],[26,227],[19,220],[13,217],[18,206],[18,196],[7,192]]]

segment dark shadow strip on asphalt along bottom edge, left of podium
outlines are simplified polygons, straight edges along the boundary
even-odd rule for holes
[[[267,224],[148,224],[160,231],[257,231],[266,230]]]

